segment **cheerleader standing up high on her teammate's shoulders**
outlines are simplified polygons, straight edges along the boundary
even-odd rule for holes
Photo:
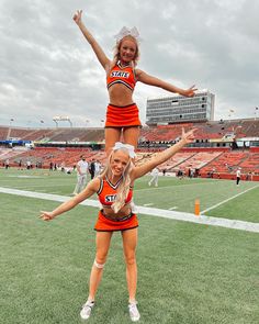
[[[82,10],[78,10],[74,15],[74,21],[91,45],[98,60],[106,72],[110,103],[105,121],[105,150],[109,155],[114,143],[120,141],[122,134],[124,143],[137,147],[142,125],[138,108],[133,100],[133,91],[137,81],[185,97],[193,97],[196,89],[194,86],[187,90],[180,89],[136,68],[139,58],[139,34],[136,27],[123,27],[120,31],[115,36],[114,57],[112,60],[109,59],[83,24],[81,16]]]

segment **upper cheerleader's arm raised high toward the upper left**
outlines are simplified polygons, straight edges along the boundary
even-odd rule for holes
[[[102,47],[98,44],[95,38],[92,36],[92,34],[89,32],[89,30],[86,27],[86,25],[82,22],[82,10],[77,10],[77,12],[74,14],[74,21],[79,26],[80,31],[82,32],[83,36],[87,38],[88,43],[91,45],[93,52],[97,55],[98,60],[101,63],[102,67],[108,70],[110,67],[110,59],[106,57],[105,53],[103,52]]]

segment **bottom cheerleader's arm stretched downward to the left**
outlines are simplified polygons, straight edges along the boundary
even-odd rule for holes
[[[72,199],[65,201],[61,203],[59,206],[57,206],[54,211],[52,212],[46,212],[46,211],[41,211],[40,219],[43,221],[52,221],[56,216],[70,211],[74,209],[77,204],[82,202],[83,200],[90,198],[93,193],[98,191],[100,187],[100,179],[95,178],[92,181],[88,183],[88,186],[85,188],[82,192],[74,197]]]

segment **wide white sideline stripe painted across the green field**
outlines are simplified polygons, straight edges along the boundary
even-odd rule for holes
[[[37,198],[37,199],[58,201],[58,202],[64,202],[71,199],[71,197],[67,197],[67,195],[25,191],[25,190],[18,190],[18,189],[3,188],[3,187],[0,187],[0,193],[23,195],[29,198]],[[92,199],[88,199],[81,202],[80,204],[99,208],[99,201],[92,200]],[[145,215],[259,233],[259,223],[219,219],[219,217],[209,217],[205,215],[195,216],[192,213],[176,212],[176,211],[147,208],[147,206],[137,206],[137,211],[139,214],[145,214]]]

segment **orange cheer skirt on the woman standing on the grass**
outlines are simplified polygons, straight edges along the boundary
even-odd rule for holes
[[[102,211],[99,211],[98,221],[95,223],[94,230],[98,232],[114,232],[114,231],[125,231],[138,227],[138,221],[136,214],[131,214],[126,220],[113,221],[105,217]]]

